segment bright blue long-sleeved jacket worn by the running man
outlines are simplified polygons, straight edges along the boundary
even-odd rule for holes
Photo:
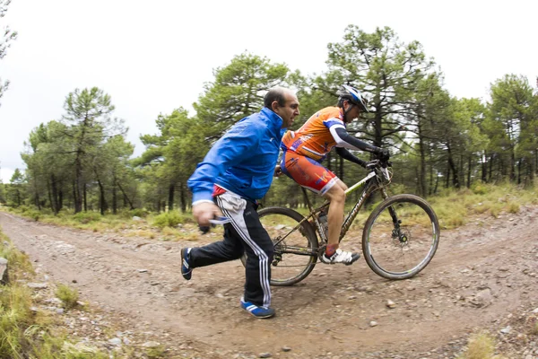
[[[198,163],[187,186],[193,203],[213,200],[213,184],[252,201],[265,196],[273,181],[279,146],[285,130],[271,109],[241,119]]]

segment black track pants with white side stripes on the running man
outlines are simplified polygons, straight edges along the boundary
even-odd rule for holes
[[[245,301],[269,307],[273,242],[260,223],[256,205],[231,192],[215,197],[215,201],[231,223],[224,224],[222,241],[191,250],[191,266],[204,267],[239,259],[246,252]]]

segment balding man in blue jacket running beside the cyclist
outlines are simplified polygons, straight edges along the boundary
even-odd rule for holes
[[[299,101],[289,89],[275,87],[264,108],[237,124],[217,141],[187,182],[193,192],[193,215],[201,226],[224,215],[224,238],[204,247],[181,250],[181,274],[195,267],[240,258],[247,253],[245,294],[241,307],[256,318],[274,315],[271,305],[273,242],[260,223],[256,200],[273,181],[284,129],[299,115]]]

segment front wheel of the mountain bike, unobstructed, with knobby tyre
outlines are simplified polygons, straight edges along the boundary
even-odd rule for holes
[[[433,208],[421,197],[388,197],[369,215],[362,251],[369,267],[387,279],[406,279],[428,266],[439,244]]]

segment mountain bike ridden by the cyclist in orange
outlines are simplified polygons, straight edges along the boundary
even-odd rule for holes
[[[421,272],[435,255],[439,243],[438,218],[421,197],[403,194],[389,197],[392,180],[390,162],[374,160],[364,166],[369,174],[346,190],[346,196],[361,188],[362,193],[344,219],[340,240],[348,232],[361,206],[375,191],[383,201],[371,212],[362,231],[362,253],[369,267],[387,279],[411,278]],[[314,208],[302,188],[308,215],[280,206],[258,211],[260,221],[274,245],[271,285],[294,285],[305,279],[325,251],[327,235],[319,215],[329,202]],[[319,246],[317,236],[323,242]],[[245,264],[245,256],[241,258]],[[409,263],[409,264],[407,264]]]

